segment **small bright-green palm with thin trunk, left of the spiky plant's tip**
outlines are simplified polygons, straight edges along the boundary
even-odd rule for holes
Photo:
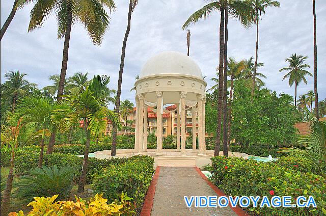
[[[50,117],[53,115],[53,112],[58,109],[63,109],[63,105],[53,103],[48,98],[42,97],[27,97],[19,103],[17,115],[23,118],[22,122],[36,122],[42,128],[42,138],[40,143],[41,151],[38,164],[39,167],[42,167],[43,164],[45,133],[53,126]]]

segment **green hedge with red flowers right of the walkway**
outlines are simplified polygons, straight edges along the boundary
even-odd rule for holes
[[[263,163],[238,157],[212,157],[213,183],[228,196],[313,196],[317,208],[245,208],[258,215],[324,215],[326,179],[310,172],[290,170],[275,163]]]

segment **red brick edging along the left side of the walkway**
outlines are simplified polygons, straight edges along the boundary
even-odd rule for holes
[[[155,189],[156,189],[156,183],[159,176],[159,169],[160,167],[156,167],[155,174],[151,180],[151,184],[148,187],[148,191],[145,197],[145,201],[143,203],[143,208],[141,211],[141,216],[150,216],[153,202],[154,202],[154,195],[155,195]]]

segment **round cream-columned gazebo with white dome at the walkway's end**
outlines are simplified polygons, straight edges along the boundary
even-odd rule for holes
[[[192,111],[192,155],[205,155],[206,82],[194,60],[176,51],[164,51],[150,58],[134,84],[136,89],[135,154],[147,152],[147,107],[157,116],[156,155],[162,155],[162,114],[177,112],[177,152],[186,156],[186,110]],[[164,109],[164,104],[177,104],[175,110]],[[198,115],[196,115],[196,113]],[[198,142],[196,149],[196,117]]]

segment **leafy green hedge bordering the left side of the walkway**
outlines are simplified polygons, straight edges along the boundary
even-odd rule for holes
[[[153,157],[130,157],[126,163],[97,171],[93,175],[91,187],[95,194],[103,193],[109,203],[118,199],[122,192],[127,192],[128,197],[133,197],[135,204],[140,208],[154,174],[153,165]]]

